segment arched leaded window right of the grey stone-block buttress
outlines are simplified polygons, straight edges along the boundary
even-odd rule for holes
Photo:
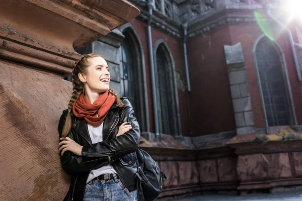
[[[258,79],[268,126],[290,124],[282,58],[267,37],[260,39],[255,50]]]

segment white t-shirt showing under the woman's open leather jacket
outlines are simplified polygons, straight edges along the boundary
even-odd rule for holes
[[[92,143],[98,143],[103,141],[103,123],[99,126],[92,126],[87,123],[88,126],[88,132],[91,138]],[[111,164],[105,165],[103,167],[100,167],[98,169],[91,170],[89,173],[89,176],[87,178],[86,183],[91,181],[93,178],[100,176],[102,174],[111,174],[111,173],[117,173],[115,169],[111,166]]]

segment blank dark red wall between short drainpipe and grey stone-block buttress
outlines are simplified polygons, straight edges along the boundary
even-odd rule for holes
[[[187,43],[193,136],[236,129],[223,45],[231,45],[229,27]]]

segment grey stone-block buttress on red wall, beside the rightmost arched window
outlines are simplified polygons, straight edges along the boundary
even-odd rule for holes
[[[255,133],[254,116],[241,43],[224,45],[238,135]]]

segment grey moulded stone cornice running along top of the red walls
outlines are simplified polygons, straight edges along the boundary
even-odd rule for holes
[[[148,12],[146,10],[146,3],[141,1],[132,0],[133,4],[140,9],[141,13],[137,19],[147,22]],[[255,10],[262,10],[262,5],[251,4],[231,4],[224,7],[217,8],[211,12],[207,12],[200,15],[198,18],[192,20],[188,26],[188,37],[195,37],[203,35],[219,29],[225,25],[235,24],[251,24],[256,22],[256,18],[253,14]],[[272,7],[274,10],[276,6]],[[162,32],[175,37],[182,38],[182,26],[167,18],[163,14],[153,10],[152,26],[161,30]]]

